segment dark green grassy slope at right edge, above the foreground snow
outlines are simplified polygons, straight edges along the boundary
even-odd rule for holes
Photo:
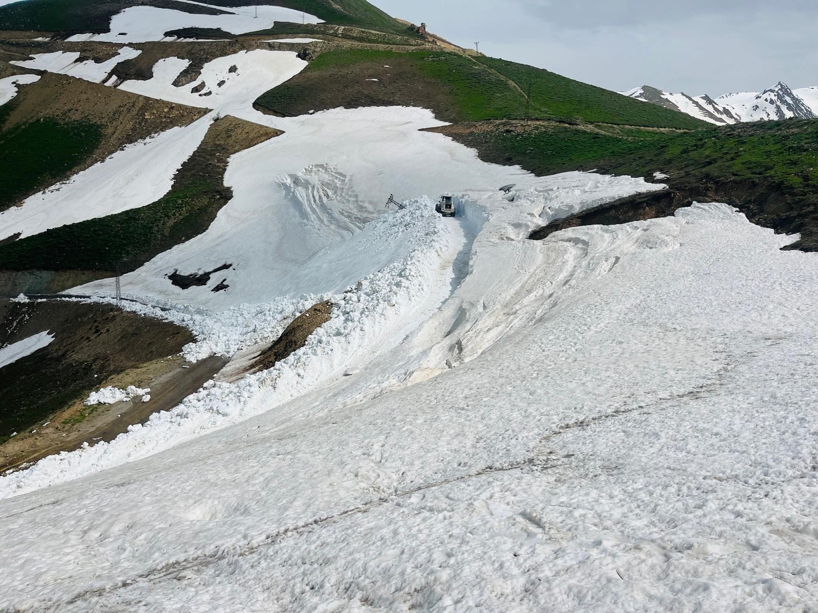
[[[795,246],[818,251],[818,120],[693,132],[594,128],[510,123],[439,131],[474,147],[482,159],[520,164],[540,175],[591,169],[636,177],[665,172],[670,178],[663,182],[679,193],[678,201],[727,202],[754,223],[801,233]]]

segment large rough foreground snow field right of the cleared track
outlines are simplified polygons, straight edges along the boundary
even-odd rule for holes
[[[495,342],[437,377],[399,380],[444,305],[359,374],[140,463],[7,500],[17,536],[0,559],[16,570],[0,580],[15,604],[816,602],[814,257],[780,252],[792,237],[724,205],[515,240],[541,213],[517,196],[470,208],[479,233],[447,301],[475,302],[482,281],[497,303],[488,318],[514,322]],[[529,204],[515,217],[519,202]],[[486,274],[498,255],[515,289]],[[443,328],[437,342],[469,346],[468,317]],[[47,562],[57,555],[70,566]]]

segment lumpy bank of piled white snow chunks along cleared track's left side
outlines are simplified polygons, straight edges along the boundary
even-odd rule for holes
[[[419,323],[416,311],[427,298],[431,297],[435,304],[442,302],[437,296],[438,286],[445,288],[448,282],[447,275],[440,275],[443,253],[451,248],[448,232],[428,199],[416,200],[406,209],[375,221],[371,234],[377,243],[405,244],[405,256],[342,294],[312,297],[303,302],[311,305],[329,299],[335,307],[330,322],[312,333],[302,349],[272,369],[248,375],[236,384],[219,383],[202,389],[176,409],[154,414],[144,425],[129,427],[128,433],[115,441],[62,452],[41,460],[25,474],[12,473],[0,481],[0,497],[144,458],[193,436],[244,421],[339,378],[354,361],[365,360],[371,352],[395,342],[397,331],[416,326]],[[162,316],[176,320],[173,312],[164,312]],[[279,322],[279,329],[287,323]],[[258,342],[258,334],[245,338],[245,342],[248,340]],[[106,387],[93,392],[86,404],[112,404],[147,392],[134,389],[131,393],[131,387],[128,391]]]

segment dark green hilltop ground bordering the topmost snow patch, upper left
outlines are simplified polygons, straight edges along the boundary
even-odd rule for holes
[[[248,0],[213,0],[209,4],[221,7],[246,6]],[[184,5],[172,0],[25,0],[0,7],[0,29],[38,30],[43,32],[108,31],[111,16],[126,7],[148,4],[174,8],[190,13],[218,14],[218,11],[197,5]],[[259,4],[274,4],[306,11],[326,23],[354,25],[384,32],[407,34],[406,26],[393,20],[384,11],[366,0],[261,0]]]

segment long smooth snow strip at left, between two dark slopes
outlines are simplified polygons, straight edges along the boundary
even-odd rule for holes
[[[208,131],[209,114],[182,128],[170,128],[25,199],[0,213],[0,239],[35,235],[50,228],[105,217],[155,202],[173,186],[173,175]]]

